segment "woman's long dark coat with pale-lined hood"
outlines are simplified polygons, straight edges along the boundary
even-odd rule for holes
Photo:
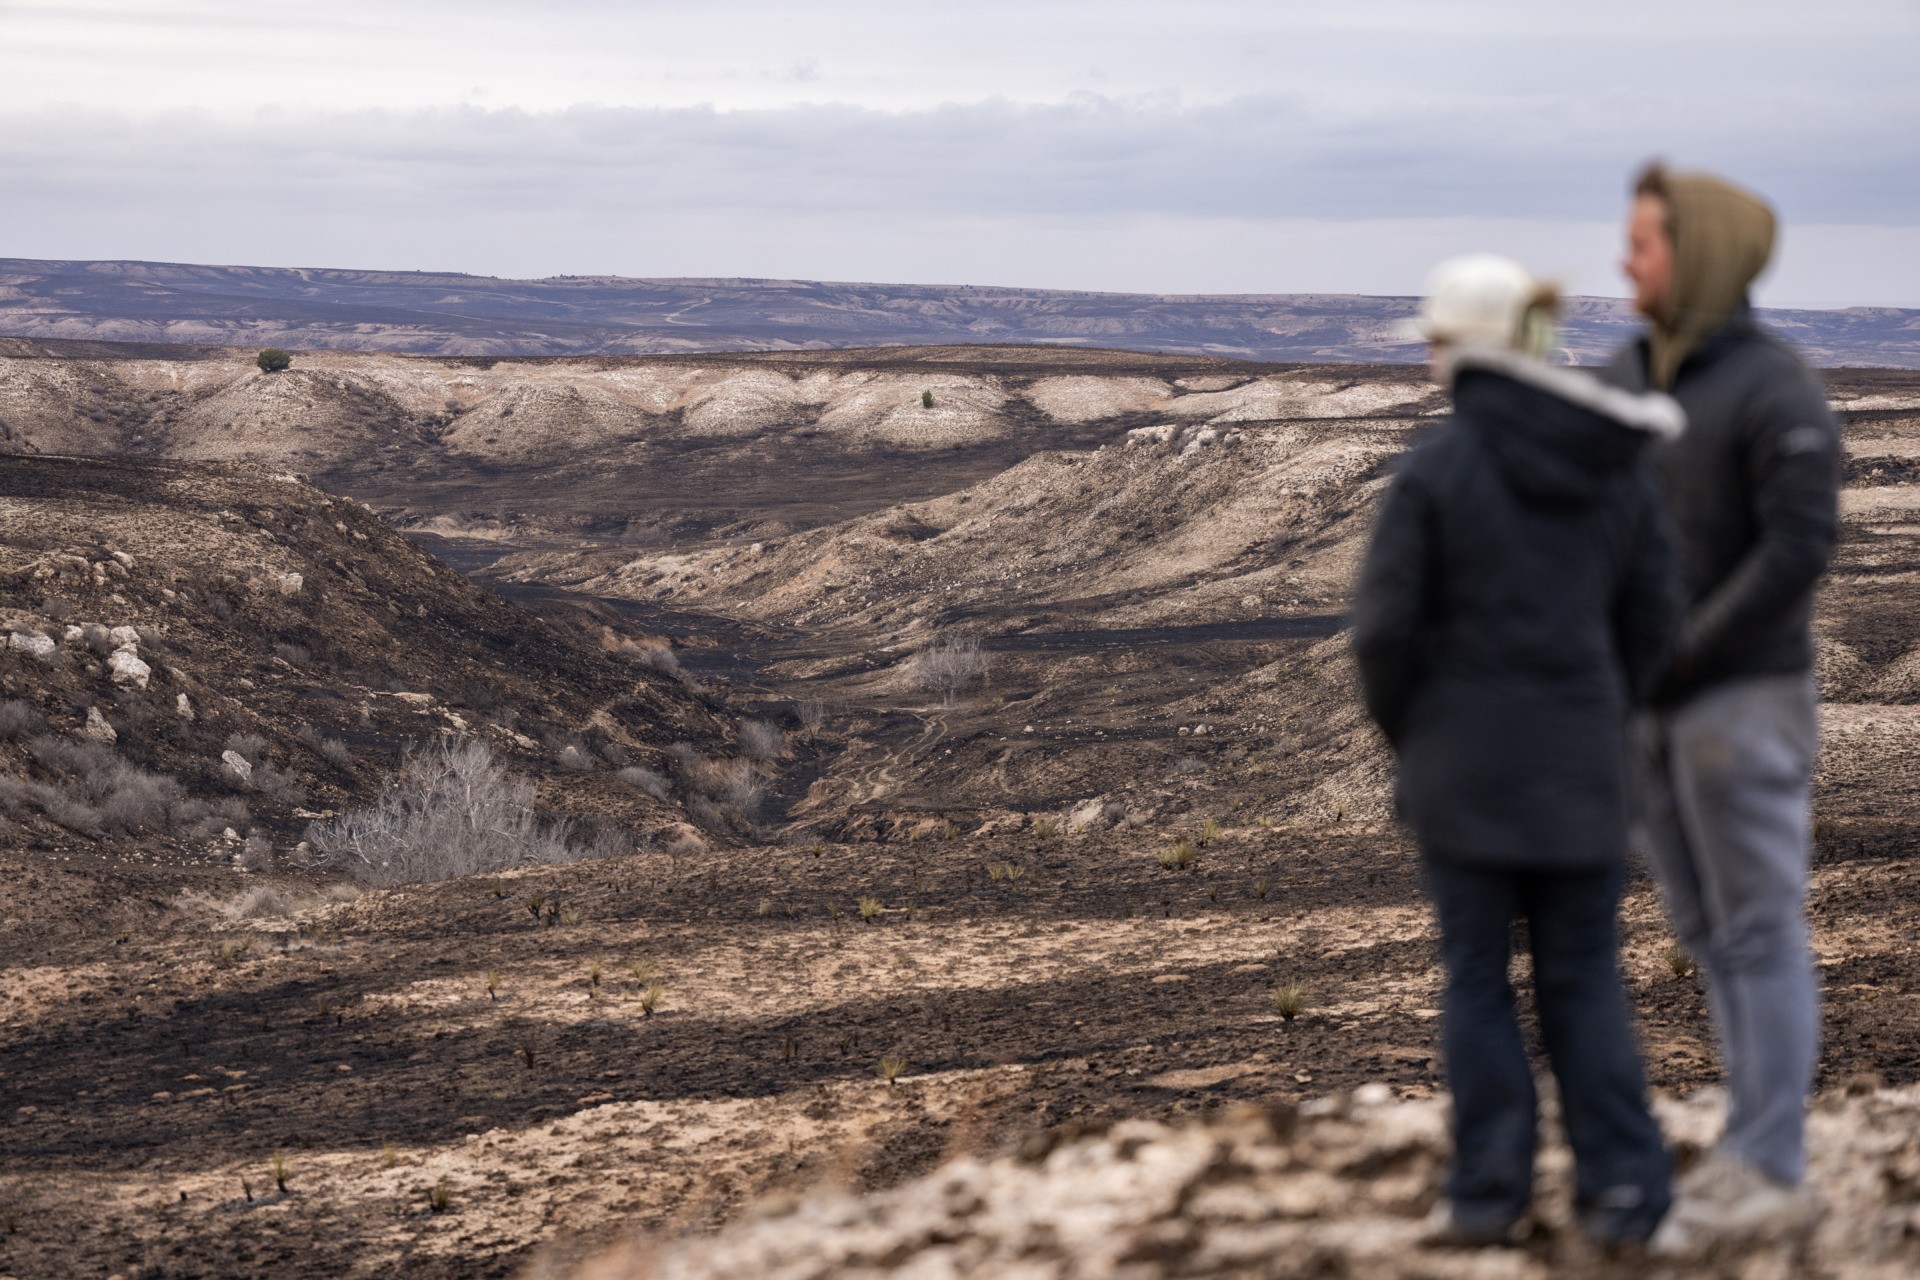
[[[1367,710],[1430,858],[1576,871],[1626,856],[1626,722],[1674,601],[1638,464],[1684,418],[1505,353],[1463,353],[1453,418],[1409,453],[1354,603]]]

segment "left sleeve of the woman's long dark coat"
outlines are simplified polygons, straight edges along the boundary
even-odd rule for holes
[[[1367,714],[1396,747],[1421,677],[1434,591],[1430,560],[1430,509],[1419,486],[1402,474],[1380,503],[1354,591],[1354,658],[1361,695]]]

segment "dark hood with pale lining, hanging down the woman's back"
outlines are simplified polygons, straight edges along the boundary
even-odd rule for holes
[[[1528,501],[1590,503],[1649,439],[1686,430],[1686,413],[1667,395],[1609,388],[1513,351],[1453,351],[1448,374],[1455,411]]]

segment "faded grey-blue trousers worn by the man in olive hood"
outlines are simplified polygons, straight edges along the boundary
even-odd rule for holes
[[[1807,935],[1812,676],[1715,685],[1647,714],[1640,818],[1674,933],[1707,979],[1726,1065],[1720,1150],[1780,1182],[1807,1171],[1820,986]]]

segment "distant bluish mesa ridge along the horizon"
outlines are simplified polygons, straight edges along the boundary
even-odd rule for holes
[[[1092,294],[822,280],[499,280],[422,271],[0,259],[0,336],[413,355],[672,355],[1062,344],[1250,361],[1417,361],[1413,297]],[[1920,311],[1764,311],[1824,367],[1920,368]],[[1638,322],[1574,297],[1565,345],[1597,363]]]

